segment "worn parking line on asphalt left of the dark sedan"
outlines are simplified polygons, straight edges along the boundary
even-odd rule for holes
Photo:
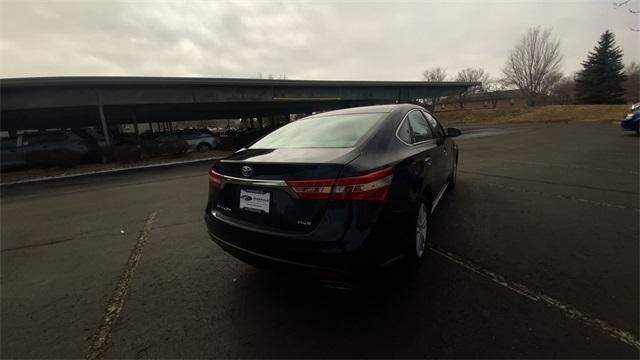
[[[109,348],[111,343],[111,329],[120,317],[120,312],[124,305],[124,299],[127,297],[129,285],[131,284],[131,278],[133,277],[133,273],[138,265],[140,256],[142,256],[142,249],[149,238],[149,232],[151,232],[151,228],[153,227],[153,222],[155,221],[157,214],[157,212],[152,212],[149,215],[144,223],[144,227],[142,228],[140,235],[138,235],[138,240],[131,250],[131,255],[129,255],[129,260],[127,260],[127,264],[120,275],[120,280],[118,280],[116,288],[113,289],[113,292],[111,293],[111,298],[109,298],[104,315],[100,320],[96,333],[91,339],[91,345],[85,355],[85,359],[102,359]]]

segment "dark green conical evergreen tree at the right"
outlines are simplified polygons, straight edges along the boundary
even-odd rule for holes
[[[587,104],[619,104],[624,102],[626,80],[622,49],[616,45],[609,30],[600,36],[598,45],[582,62],[583,69],[576,76],[576,97]]]

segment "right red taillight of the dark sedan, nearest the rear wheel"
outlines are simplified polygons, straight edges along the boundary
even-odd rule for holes
[[[301,199],[377,200],[389,192],[393,168],[366,175],[323,180],[295,180],[287,184]]]

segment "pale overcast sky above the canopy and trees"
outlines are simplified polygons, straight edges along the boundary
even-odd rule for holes
[[[626,62],[640,60],[629,30],[639,17],[612,1],[0,0],[0,77],[420,80],[433,66],[498,76],[536,25],[553,29],[571,73],[606,29]]]

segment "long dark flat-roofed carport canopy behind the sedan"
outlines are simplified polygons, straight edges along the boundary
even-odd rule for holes
[[[0,80],[0,130],[267,117],[413,102],[477,83],[166,77]]]

